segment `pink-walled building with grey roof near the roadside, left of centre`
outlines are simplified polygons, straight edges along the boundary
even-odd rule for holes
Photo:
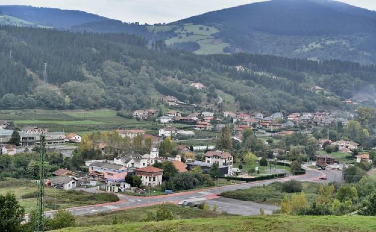
[[[102,173],[103,177],[111,182],[123,182],[127,176],[127,167],[118,164],[93,162],[89,165],[89,173]]]

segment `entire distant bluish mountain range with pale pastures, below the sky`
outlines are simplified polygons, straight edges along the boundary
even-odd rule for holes
[[[22,25],[130,33],[152,41],[163,39],[171,47],[197,54],[246,52],[376,62],[376,12],[332,0],[251,3],[167,25],[123,23],[82,11],[31,6],[0,6],[0,11],[13,17],[10,22],[20,19]]]

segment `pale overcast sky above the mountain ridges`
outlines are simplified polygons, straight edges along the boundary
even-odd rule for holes
[[[31,5],[73,9],[124,22],[169,23],[208,11],[263,0],[0,0],[0,5]],[[376,10],[376,0],[339,0]]]

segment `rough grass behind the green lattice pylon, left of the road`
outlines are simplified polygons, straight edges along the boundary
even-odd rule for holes
[[[14,193],[18,202],[29,213],[36,208],[36,192],[38,186],[30,180],[6,180],[0,182],[0,194]],[[111,193],[86,193],[83,191],[65,191],[54,188],[45,188],[45,210],[71,208],[75,206],[94,205],[115,202],[118,197]]]

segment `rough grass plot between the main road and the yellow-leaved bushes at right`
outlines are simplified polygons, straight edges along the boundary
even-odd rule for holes
[[[303,192],[307,199],[314,199],[317,193],[318,183],[303,182]],[[228,197],[249,202],[262,203],[266,205],[280,205],[285,195],[291,196],[292,193],[286,193],[282,190],[282,183],[274,182],[265,187],[252,187],[244,190],[235,190],[223,192],[221,197]]]

